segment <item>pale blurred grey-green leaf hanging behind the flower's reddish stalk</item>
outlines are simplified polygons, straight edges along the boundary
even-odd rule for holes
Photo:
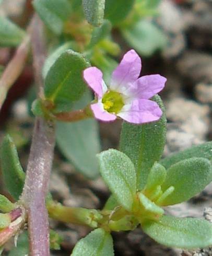
[[[84,108],[92,100],[89,91],[74,109]],[[96,178],[99,174],[96,154],[100,152],[99,127],[95,119],[80,122],[57,122],[56,141],[63,155],[88,178]]]

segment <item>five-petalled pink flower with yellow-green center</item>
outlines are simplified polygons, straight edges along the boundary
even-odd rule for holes
[[[166,78],[148,75],[140,78],[142,62],[138,54],[128,51],[112,73],[110,85],[105,85],[97,67],[84,70],[86,83],[95,91],[97,103],[91,104],[95,118],[114,121],[117,117],[129,123],[142,124],[157,121],[162,111],[155,101],[149,100],[161,91]]]

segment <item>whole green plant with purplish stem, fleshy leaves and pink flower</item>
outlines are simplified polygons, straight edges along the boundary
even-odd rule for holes
[[[62,238],[49,229],[49,218],[92,229],[76,243],[72,256],[112,256],[111,232],[137,227],[167,247],[212,245],[207,220],[166,214],[166,206],[190,200],[212,181],[212,142],[162,158],[167,119],[158,93],[167,79],[139,77],[138,55],[149,56],[167,43],[145,19],[158,14],[159,2],[34,0],[26,31],[0,17],[0,45],[18,46],[0,77],[0,108],[29,52],[38,91],[29,100],[36,121],[26,172],[11,136],[2,142],[2,176],[13,200],[0,195],[0,254],[20,233],[9,256],[49,256],[50,249],[60,250]],[[112,28],[135,49],[120,64],[114,60],[121,47],[112,39]],[[116,119],[123,120],[119,150],[101,152],[97,120]],[[102,209],[54,201],[48,184],[55,141],[87,178],[101,174],[111,192]]]

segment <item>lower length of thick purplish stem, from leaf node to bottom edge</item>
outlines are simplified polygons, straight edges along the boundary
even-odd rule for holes
[[[54,150],[54,127],[36,118],[21,201],[28,209],[31,256],[49,256],[49,220],[45,207]]]

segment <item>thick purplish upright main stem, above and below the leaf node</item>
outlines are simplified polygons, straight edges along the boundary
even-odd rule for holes
[[[42,95],[42,66],[45,60],[43,24],[37,15],[32,20],[32,55],[34,78]],[[45,207],[55,144],[52,122],[36,118],[27,166],[26,180],[20,201],[28,210],[30,256],[49,256],[49,220]]]

